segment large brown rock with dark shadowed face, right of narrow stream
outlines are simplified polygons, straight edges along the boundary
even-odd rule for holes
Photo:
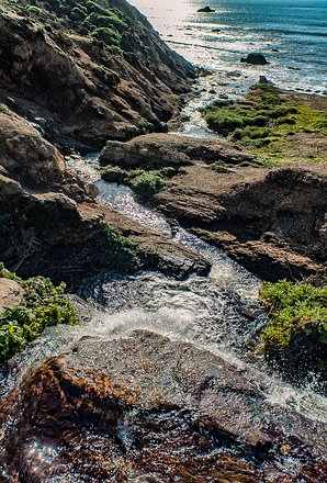
[[[267,280],[325,273],[326,164],[215,172],[187,168],[160,210]]]

